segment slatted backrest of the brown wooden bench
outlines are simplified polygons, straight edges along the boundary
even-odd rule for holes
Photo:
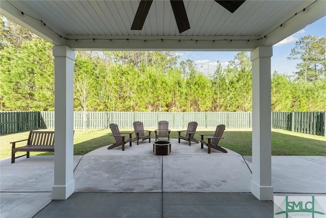
[[[54,131],[31,131],[27,142],[31,146],[54,146]]]

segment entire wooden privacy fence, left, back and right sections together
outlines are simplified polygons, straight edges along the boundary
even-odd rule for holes
[[[273,112],[272,128],[325,136],[326,112]],[[83,129],[83,112],[74,112],[74,129]],[[87,112],[86,129],[106,129],[110,123],[132,129],[134,121],[145,128],[157,128],[159,120],[167,120],[171,129],[185,129],[191,121],[198,128],[252,128],[252,112]],[[0,134],[37,128],[55,128],[54,111],[0,111]]]

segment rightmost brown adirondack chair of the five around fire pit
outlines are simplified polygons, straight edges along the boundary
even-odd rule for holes
[[[200,140],[201,148],[203,149],[205,144],[205,146],[208,147],[208,154],[210,154],[211,148],[221,151],[223,153],[228,153],[224,148],[218,145],[220,139],[222,138],[221,136],[223,135],[224,130],[225,130],[224,124],[217,126],[214,134],[212,135],[213,137],[206,137],[208,141],[204,141],[204,136],[211,135],[211,134],[199,134],[201,135],[201,140]]]

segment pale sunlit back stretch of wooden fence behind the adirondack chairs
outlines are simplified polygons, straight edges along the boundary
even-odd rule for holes
[[[41,111],[43,127],[54,128],[53,111]],[[119,128],[132,129],[132,123],[141,121],[145,128],[157,128],[160,120],[167,120],[170,129],[186,128],[196,121],[198,128],[216,128],[225,124],[227,128],[251,128],[251,112],[87,112],[86,129],[108,128],[111,123]],[[74,128],[83,129],[83,112],[74,112]]]

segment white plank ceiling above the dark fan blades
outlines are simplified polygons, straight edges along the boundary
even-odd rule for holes
[[[21,11],[47,20],[65,35],[180,35],[170,1],[153,2],[143,30],[130,30],[140,1],[12,1]],[[301,1],[246,1],[230,13],[213,0],[184,1],[191,29],[186,36],[260,36],[281,23]],[[21,6],[20,6],[21,7]],[[278,22],[279,21],[279,22]]]

